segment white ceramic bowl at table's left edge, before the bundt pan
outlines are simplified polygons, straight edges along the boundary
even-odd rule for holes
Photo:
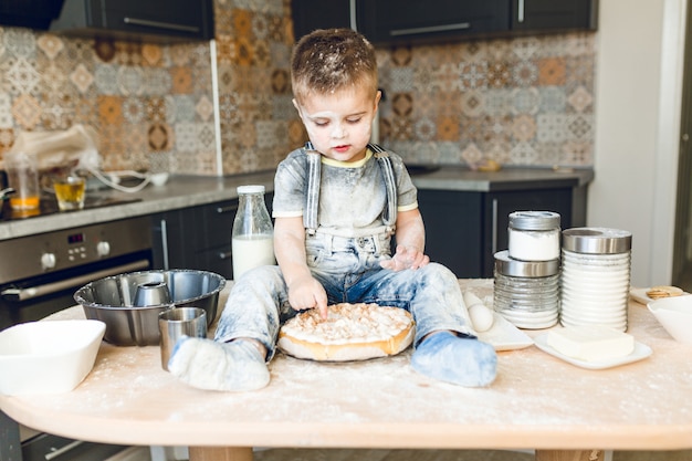
[[[88,375],[106,331],[101,321],[28,322],[0,332],[0,394],[60,394]]]

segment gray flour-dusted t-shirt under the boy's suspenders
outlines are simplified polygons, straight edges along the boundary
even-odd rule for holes
[[[279,165],[274,177],[274,218],[302,217],[307,193],[307,158],[296,149]],[[401,157],[389,153],[397,182],[397,210],[418,208],[417,190]],[[342,237],[379,233],[387,205],[385,179],[373,153],[346,164],[322,157],[319,232]]]

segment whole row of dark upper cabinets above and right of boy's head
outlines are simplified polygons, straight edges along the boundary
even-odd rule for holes
[[[291,8],[296,39],[338,27],[386,45],[596,30],[598,0],[293,0]]]

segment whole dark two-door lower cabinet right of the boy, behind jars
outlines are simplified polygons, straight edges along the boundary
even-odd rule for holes
[[[514,211],[554,211],[562,229],[585,226],[585,188],[505,191],[418,191],[426,253],[460,279],[492,277],[494,254],[508,245]]]

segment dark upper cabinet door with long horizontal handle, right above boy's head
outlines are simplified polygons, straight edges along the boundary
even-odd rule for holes
[[[374,43],[439,41],[510,30],[507,0],[356,0],[356,23]]]

